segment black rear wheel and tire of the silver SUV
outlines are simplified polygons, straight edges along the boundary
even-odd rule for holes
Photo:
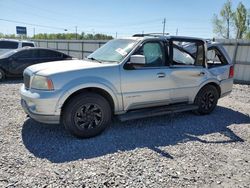
[[[195,114],[205,115],[210,114],[217,105],[219,93],[215,86],[206,85],[197,94],[194,104],[198,105]]]

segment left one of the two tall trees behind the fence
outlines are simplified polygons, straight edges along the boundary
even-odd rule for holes
[[[230,25],[233,21],[234,13],[232,11],[232,3],[228,0],[220,11],[220,15],[214,15],[213,25],[214,32],[223,38],[230,37]]]

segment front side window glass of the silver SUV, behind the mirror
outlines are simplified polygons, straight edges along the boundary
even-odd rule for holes
[[[159,42],[147,42],[134,53],[134,55],[144,55],[145,67],[164,66],[163,45]]]

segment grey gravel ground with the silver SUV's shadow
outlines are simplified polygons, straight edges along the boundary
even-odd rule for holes
[[[250,87],[214,113],[124,123],[80,140],[21,109],[20,81],[0,83],[0,187],[250,187]]]

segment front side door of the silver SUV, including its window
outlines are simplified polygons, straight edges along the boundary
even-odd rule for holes
[[[121,67],[121,90],[124,110],[138,109],[170,103],[171,81],[166,66],[165,45],[161,41],[148,41],[133,55],[144,55],[146,64]]]

